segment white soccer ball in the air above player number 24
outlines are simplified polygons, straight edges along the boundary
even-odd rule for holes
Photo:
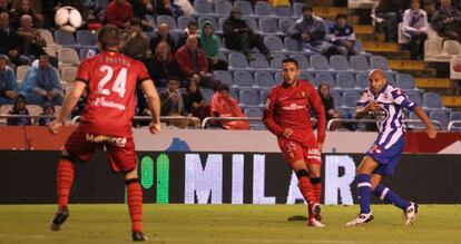
[[[82,19],[76,8],[65,6],[56,11],[55,23],[59,30],[75,32],[81,26]]]

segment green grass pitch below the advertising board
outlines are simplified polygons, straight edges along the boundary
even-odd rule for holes
[[[127,243],[127,206],[70,205],[60,232],[51,232],[51,205],[0,205],[0,243]],[[461,205],[421,205],[414,226],[400,209],[373,205],[375,219],[345,227],[359,206],[324,206],[325,228],[288,222],[303,205],[144,205],[150,243],[461,243]]]

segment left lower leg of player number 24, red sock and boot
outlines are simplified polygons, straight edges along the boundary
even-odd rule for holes
[[[67,205],[69,203],[70,188],[73,182],[73,163],[67,157],[62,156],[58,163],[57,173],[57,194],[58,194],[58,212],[51,221],[51,230],[59,231],[61,225],[69,217],[69,209]]]

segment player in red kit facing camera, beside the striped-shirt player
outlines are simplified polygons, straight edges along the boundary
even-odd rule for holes
[[[324,227],[321,223],[321,152],[325,140],[325,111],[315,88],[300,75],[297,61],[283,61],[284,81],[267,96],[264,124],[277,136],[285,160],[296,173],[298,187],[308,207],[308,226]],[[315,138],[311,110],[317,115]]]

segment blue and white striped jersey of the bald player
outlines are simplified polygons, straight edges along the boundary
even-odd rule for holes
[[[413,111],[416,104],[391,84],[384,85],[381,92],[376,95],[366,88],[357,101],[357,106],[365,107],[371,101],[379,103],[381,107],[380,110],[372,111],[379,129],[376,143],[388,149],[405,133],[403,108]]]

